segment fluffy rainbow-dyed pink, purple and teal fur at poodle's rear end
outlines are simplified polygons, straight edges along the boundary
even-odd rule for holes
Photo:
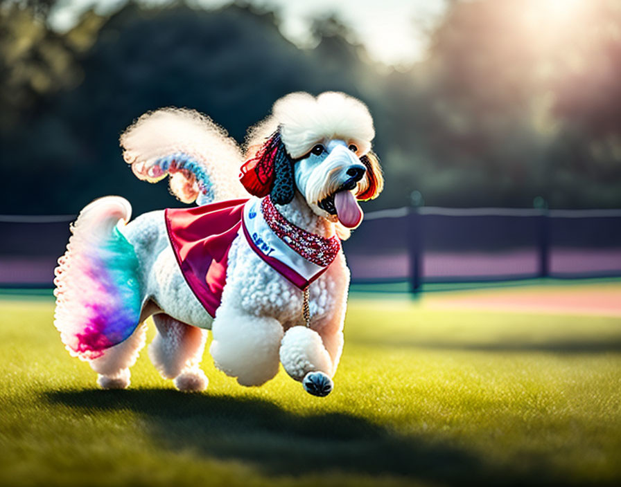
[[[73,356],[93,360],[138,326],[138,259],[119,231],[132,214],[120,196],[87,205],[71,227],[67,252],[55,269],[55,327]]]

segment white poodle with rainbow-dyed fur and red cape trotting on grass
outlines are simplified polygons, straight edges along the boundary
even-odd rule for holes
[[[326,396],[343,347],[349,268],[340,241],[362,220],[358,201],[383,189],[365,104],[344,93],[291,93],[252,128],[245,158],[207,116],[146,113],[121,135],[132,172],[169,178],[189,208],[142,214],[105,196],[71,226],[55,269],[55,327],[105,389],[130,384],[145,344],[164,378],[207,387],[218,369],[245,386],[279,364],[306,392]],[[241,167],[241,170],[240,170]]]

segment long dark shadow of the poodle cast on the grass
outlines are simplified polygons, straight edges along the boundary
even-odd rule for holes
[[[534,477],[507,482],[506,470],[446,442],[405,436],[349,414],[301,416],[257,398],[141,389],[48,392],[46,399],[89,411],[136,412],[165,448],[251,462],[273,475],[340,471],[451,485],[471,485],[473,477],[492,484]]]

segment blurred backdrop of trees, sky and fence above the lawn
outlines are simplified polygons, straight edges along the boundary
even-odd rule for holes
[[[360,282],[621,273],[619,0],[0,0],[0,53],[4,282],[49,276],[24,277],[98,196],[181,205],[121,158],[145,111],[242,142],[300,90],[374,116],[386,190],[348,243]]]

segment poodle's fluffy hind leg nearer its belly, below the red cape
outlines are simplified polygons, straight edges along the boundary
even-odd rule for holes
[[[207,331],[192,327],[164,313],[153,315],[157,328],[149,345],[149,357],[164,378],[174,379],[180,391],[207,389],[207,377],[199,368]]]

